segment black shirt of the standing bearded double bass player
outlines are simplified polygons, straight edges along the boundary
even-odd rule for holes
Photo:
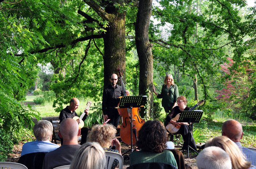
[[[110,84],[107,88],[104,88],[102,96],[102,111],[104,115],[106,115],[107,108],[117,107],[120,102],[120,96],[124,96],[121,86],[116,84],[116,88],[114,88]]]

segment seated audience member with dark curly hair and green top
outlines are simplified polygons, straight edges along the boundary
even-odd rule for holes
[[[174,155],[166,150],[167,131],[159,120],[148,120],[142,125],[138,134],[137,147],[141,151],[130,154],[130,165],[158,162],[177,167]]]

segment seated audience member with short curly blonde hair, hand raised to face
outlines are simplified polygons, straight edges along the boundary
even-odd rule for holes
[[[89,141],[99,143],[104,151],[121,154],[121,144],[115,135],[116,128],[112,124],[97,124],[92,127],[92,131],[89,133]],[[110,145],[115,145],[115,149],[110,149]],[[118,164],[118,160],[115,159],[111,168],[116,168]]]

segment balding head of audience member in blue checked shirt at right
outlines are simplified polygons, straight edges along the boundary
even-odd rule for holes
[[[243,137],[242,125],[236,120],[227,120],[222,124],[222,136],[229,137],[234,142],[240,142]]]

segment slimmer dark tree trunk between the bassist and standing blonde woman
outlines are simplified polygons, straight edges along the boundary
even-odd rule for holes
[[[135,42],[140,62],[139,95],[147,95],[148,102],[141,116],[152,116],[153,107],[153,55],[148,39],[148,28],[151,17],[152,0],[141,0],[135,24]]]

